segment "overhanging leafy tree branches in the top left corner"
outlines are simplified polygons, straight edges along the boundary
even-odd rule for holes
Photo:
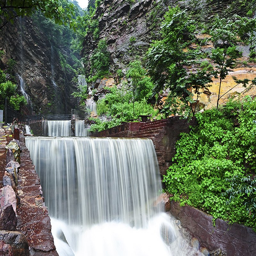
[[[15,17],[31,16],[37,10],[44,13],[44,16],[54,19],[56,24],[74,27],[74,5],[68,1],[62,1],[64,6],[60,5],[58,0],[1,0],[0,1],[0,29],[7,22],[14,22]],[[3,18],[4,17],[4,18]]]

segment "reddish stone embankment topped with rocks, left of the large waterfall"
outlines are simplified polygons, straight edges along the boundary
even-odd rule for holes
[[[57,256],[50,217],[23,133],[16,129],[19,133],[12,140],[10,130],[0,127],[0,255]]]

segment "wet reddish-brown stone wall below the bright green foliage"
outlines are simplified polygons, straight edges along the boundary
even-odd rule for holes
[[[253,256],[256,253],[256,233],[244,225],[228,223],[224,220],[213,221],[211,215],[190,207],[171,202],[171,214],[200,244],[209,251],[222,252],[210,255]],[[220,249],[220,250],[218,250]]]

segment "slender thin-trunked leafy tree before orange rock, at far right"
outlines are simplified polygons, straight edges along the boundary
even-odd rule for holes
[[[214,24],[210,31],[212,42],[215,49],[212,50],[211,59],[216,64],[215,78],[220,78],[219,93],[217,100],[217,108],[220,96],[221,82],[226,78],[231,68],[234,67],[235,61],[238,57],[236,45],[238,42],[248,41],[248,36],[253,35],[256,26],[256,19],[248,19],[246,17],[235,16],[235,20],[226,20],[220,18],[218,15],[215,18]],[[237,81],[236,81],[237,82]],[[239,80],[246,87],[247,80]],[[239,83],[238,83],[239,84]]]

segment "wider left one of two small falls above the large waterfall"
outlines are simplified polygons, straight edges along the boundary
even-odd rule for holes
[[[44,135],[67,137],[71,133],[71,120],[44,120],[42,122]],[[46,134],[46,127],[48,133]]]

